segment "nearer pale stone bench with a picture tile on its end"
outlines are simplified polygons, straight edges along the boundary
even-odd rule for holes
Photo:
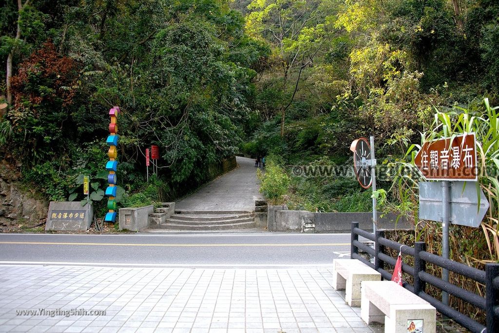
[[[437,310],[393,281],[362,282],[360,317],[368,325],[385,323],[385,333],[412,332],[422,326],[424,333],[436,331]]]

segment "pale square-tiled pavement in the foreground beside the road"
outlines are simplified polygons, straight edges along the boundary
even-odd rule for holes
[[[321,269],[0,266],[0,332],[377,332]],[[105,316],[16,310],[105,310]]]

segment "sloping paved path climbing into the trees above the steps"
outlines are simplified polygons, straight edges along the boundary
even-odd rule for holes
[[[236,157],[238,168],[202,187],[190,197],[175,203],[182,211],[254,210],[253,197],[261,197],[254,160]]]

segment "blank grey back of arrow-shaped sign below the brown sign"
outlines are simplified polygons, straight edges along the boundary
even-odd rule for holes
[[[467,227],[480,227],[489,209],[489,202],[480,189],[477,195],[477,183],[452,182],[449,189],[449,217],[452,224]],[[440,222],[443,219],[442,185],[440,182],[419,183],[419,218]]]

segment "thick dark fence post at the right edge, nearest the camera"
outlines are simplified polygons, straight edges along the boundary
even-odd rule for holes
[[[499,320],[496,318],[495,309],[499,307],[499,288],[494,280],[499,277],[499,264],[485,265],[485,304],[487,333],[499,332]]]

